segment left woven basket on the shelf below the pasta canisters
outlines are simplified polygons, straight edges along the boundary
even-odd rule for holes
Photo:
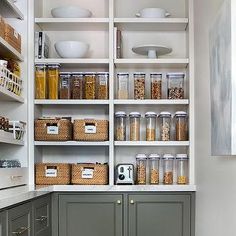
[[[71,139],[72,139],[72,123],[70,120],[68,119],[35,120],[36,141],[68,141]]]

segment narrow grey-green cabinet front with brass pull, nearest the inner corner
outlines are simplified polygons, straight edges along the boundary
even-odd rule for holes
[[[51,198],[50,196],[33,201],[34,236],[51,235]]]

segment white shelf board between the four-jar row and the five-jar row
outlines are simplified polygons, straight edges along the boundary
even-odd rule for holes
[[[114,100],[115,105],[188,105],[188,99],[179,99],[179,100],[171,100],[171,99],[160,99],[160,100]]]

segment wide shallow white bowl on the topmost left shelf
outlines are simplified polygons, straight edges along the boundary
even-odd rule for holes
[[[51,14],[56,18],[88,18],[92,12],[78,6],[63,6],[51,10]]]

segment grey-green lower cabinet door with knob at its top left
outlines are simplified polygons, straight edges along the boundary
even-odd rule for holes
[[[190,195],[129,195],[129,236],[190,236]]]

